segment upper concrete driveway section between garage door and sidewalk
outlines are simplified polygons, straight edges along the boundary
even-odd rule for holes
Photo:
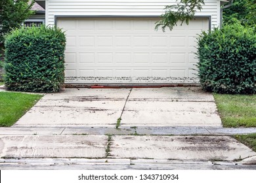
[[[213,95],[200,88],[66,89],[45,95],[15,126],[221,127]]]

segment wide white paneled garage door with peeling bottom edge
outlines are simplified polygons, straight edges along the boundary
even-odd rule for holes
[[[197,82],[196,35],[207,18],[165,33],[155,18],[57,18],[66,31],[66,82]]]

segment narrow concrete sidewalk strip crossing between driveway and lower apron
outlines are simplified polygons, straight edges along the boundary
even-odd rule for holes
[[[0,135],[246,135],[256,133],[255,127],[0,127]]]

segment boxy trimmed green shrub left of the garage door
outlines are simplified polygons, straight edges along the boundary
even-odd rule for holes
[[[5,38],[5,86],[13,91],[60,91],[65,46],[65,35],[56,27],[15,29]]]

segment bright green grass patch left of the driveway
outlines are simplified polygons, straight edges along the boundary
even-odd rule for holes
[[[42,95],[0,92],[0,126],[13,125]]]

